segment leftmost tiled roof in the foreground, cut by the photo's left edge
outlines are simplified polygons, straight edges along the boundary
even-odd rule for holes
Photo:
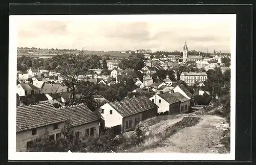
[[[23,131],[61,121],[63,119],[57,115],[55,108],[48,102],[17,107],[16,110],[16,125]]]

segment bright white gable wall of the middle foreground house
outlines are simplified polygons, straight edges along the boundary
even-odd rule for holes
[[[105,127],[114,127],[122,124],[123,117],[108,103],[102,105],[100,109],[104,109],[104,113],[100,113],[105,121]],[[110,110],[112,110],[112,114],[110,114]]]

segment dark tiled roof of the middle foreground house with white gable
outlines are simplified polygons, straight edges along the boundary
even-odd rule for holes
[[[156,104],[145,96],[125,99],[120,102],[115,101],[109,104],[123,117],[144,112],[153,108],[158,108]]]

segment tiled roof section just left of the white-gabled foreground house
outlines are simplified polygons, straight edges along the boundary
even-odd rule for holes
[[[55,109],[62,119],[69,120],[73,127],[98,121],[99,118],[84,104]]]

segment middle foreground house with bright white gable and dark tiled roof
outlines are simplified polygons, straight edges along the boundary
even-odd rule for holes
[[[105,127],[115,127],[120,132],[127,132],[133,130],[141,121],[156,116],[157,108],[158,106],[145,96],[138,96],[120,102],[106,103],[98,111]]]

